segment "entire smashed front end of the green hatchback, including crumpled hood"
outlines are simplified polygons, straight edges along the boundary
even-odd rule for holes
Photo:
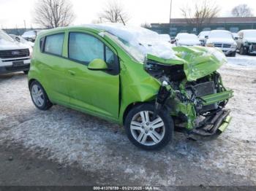
[[[145,63],[145,70],[162,82],[155,114],[168,109],[176,127],[191,134],[212,136],[223,132],[231,120],[225,105],[233,96],[217,72],[226,62],[225,55],[202,47],[177,47],[176,52],[176,60],[148,55]]]

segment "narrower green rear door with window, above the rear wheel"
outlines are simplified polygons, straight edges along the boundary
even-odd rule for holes
[[[40,74],[46,82],[45,89],[50,100],[59,104],[69,103],[65,59],[62,56],[64,35],[64,31],[62,31],[45,36],[40,40],[42,54],[38,66]]]

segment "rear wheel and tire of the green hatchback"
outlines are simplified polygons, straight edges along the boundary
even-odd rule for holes
[[[48,95],[45,93],[44,88],[39,82],[34,81],[31,83],[30,95],[34,105],[40,110],[50,109],[53,104],[50,102]]]

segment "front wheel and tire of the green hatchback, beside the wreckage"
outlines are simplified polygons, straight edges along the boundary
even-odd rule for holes
[[[173,119],[162,110],[153,119],[154,104],[135,106],[126,117],[124,128],[135,146],[146,150],[165,147],[173,138]]]

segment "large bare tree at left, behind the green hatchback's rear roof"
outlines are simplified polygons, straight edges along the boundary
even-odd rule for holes
[[[39,0],[34,15],[34,23],[45,28],[69,26],[75,19],[68,0]]]

